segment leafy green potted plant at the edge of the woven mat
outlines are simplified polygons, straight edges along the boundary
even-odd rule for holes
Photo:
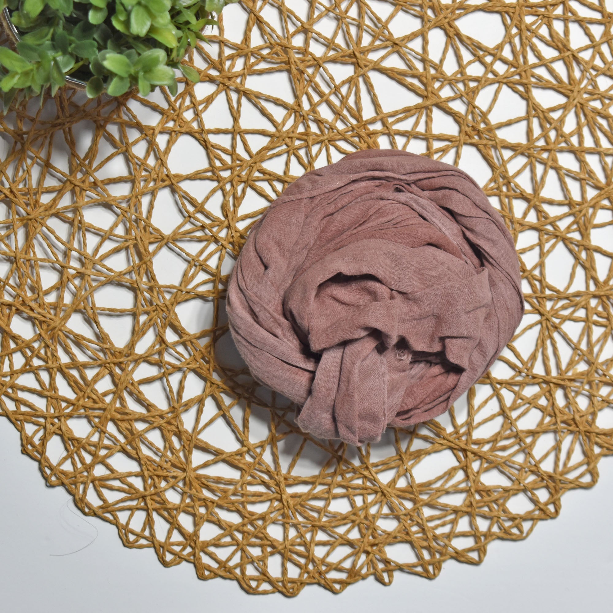
[[[55,95],[69,83],[89,97],[121,96],[138,88],[147,96],[159,85],[177,93],[188,46],[207,40],[207,26],[237,0],[0,0],[2,25],[14,51],[0,47],[0,100]]]

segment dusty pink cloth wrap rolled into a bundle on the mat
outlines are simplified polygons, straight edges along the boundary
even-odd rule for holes
[[[253,376],[305,432],[378,441],[444,413],[524,313],[503,219],[462,170],[360,151],[308,172],[253,226],[228,289]]]

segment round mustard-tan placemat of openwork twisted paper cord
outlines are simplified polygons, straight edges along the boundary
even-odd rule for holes
[[[0,118],[0,406],[47,482],[254,593],[435,577],[557,516],[613,451],[611,21],[604,0],[246,0],[175,99],[67,89]],[[485,177],[527,314],[467,401],[356,449],[257,387],[224,295],[268,202],[368,147]]]

